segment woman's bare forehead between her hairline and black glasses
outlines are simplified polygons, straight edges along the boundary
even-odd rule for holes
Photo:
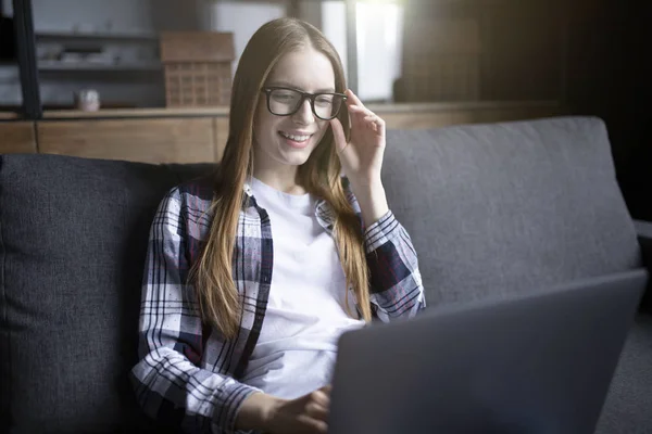
[[[335,72],[326,54],[306,47],[284,54],[272,68],[267,86],[288,86],[306,92],[335,89]]]

